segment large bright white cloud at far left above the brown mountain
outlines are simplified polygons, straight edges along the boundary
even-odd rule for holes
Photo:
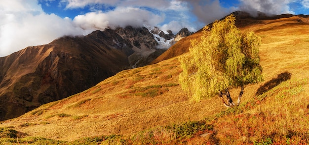
[[[0,2],[0,57],[27,46],[47,44],[63,35],[85,34],[72,20],[45,14],[37,0]]]

